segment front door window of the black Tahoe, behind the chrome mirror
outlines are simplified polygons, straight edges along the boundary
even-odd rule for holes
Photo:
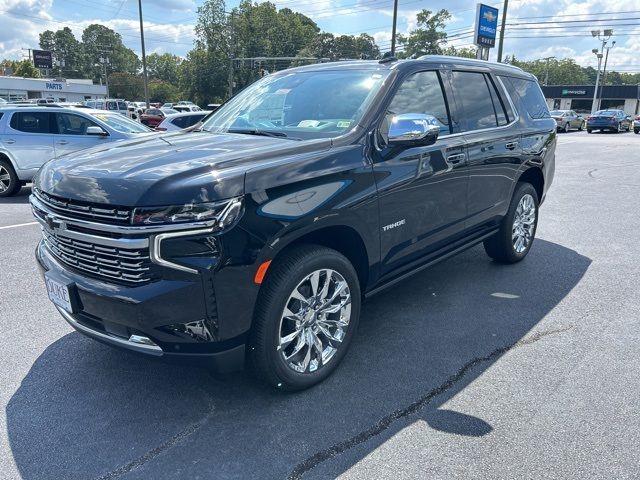
[[[422,113],[438,120],[441,133],[449,133],[449,113],[437,72],[418,72],[406,78],[396,92],[389,113]]]

